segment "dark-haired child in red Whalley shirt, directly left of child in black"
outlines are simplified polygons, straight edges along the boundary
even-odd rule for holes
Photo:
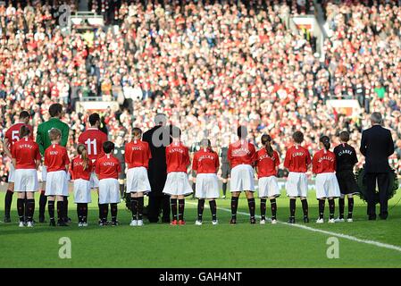
[[[319,140],[321,150],[313,156],[312,171],[316,174],[316,198],[319,200],[319,219],[316,223],[324,223],[324,203],[329,200],[329,223],[334,221],[334,198],[339,198],[340,191],[336,177],[336,156],[330,151],[330,139],[322,136]]]

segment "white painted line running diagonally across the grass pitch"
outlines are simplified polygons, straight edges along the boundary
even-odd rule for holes
[[[196,203],[188,202],[188,204],[197,206]],[[209,206],[205,206],[205,207],[208,208]],[[217,207],[217,209],[231,213],[231,210],[229,208]],[[243,212],[237,212],[237,214],[249,215],[249,214],[246,214]],[[261,216],[256,214],[255,217],[260,218]],[[285,225],[292,226],[292,227],[297,227],[299,229],[304,229],[306,231],[320,232],[320,233],[327,234],[330,236],[336,236],[338,238],[345,239],[345,240],[356,241],[356,242],[360,242],[360,243],[374,245],[379,248],[393,249],[393,250],[397,250],[397,251],[401,252],[401,247],[397,247],[395,245],[388,244],[388,243],[382,243],[382,242],[375,241],[375,240],[361,240],[361,239],[355,238],[355,236],[351,236],[351,235],[347,235],[347,234],[343,234],[343,233],[332,232],[332,231],[323,231],[323,230],[319,230],[319,229],[313,229],[313,227],[302,225],[302,224],[297,224],[297,223],[296,224],[283,223],[280,221],[277,221],[277,223],[285,224]]]

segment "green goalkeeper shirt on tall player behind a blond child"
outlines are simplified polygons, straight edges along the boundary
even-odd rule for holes
[[[63,147],[67,146],[70,128],[66,123],[62,122],[60,119],[50,118],[47,122],[43,122],[38,126],[37,143],[39,145],[40,154],[42,156],[45,155],[46,148],[52,145],[49,138],[49,131],[52,130],[53,128],[62,131],[62,140],[60,141],[60,145]]]

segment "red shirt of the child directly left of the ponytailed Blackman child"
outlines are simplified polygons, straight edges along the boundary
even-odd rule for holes
[[[238,164],[253,165],[256,161],[255,146],[245,140],[239,140],[230,144],[227,157],[229,158],[231,168],[234,168]]]

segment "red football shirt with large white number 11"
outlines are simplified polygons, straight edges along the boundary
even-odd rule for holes
[[[95,127],[90,127],[79,135],[79,144],[85,144],[90,160],[96,160],[104,156],[103,143],[107,141],[107,135]]]

